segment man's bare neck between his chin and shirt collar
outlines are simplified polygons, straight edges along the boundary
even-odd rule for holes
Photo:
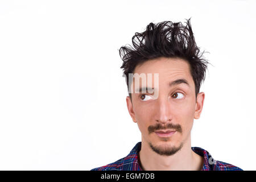
[[[183,147],[171,156],[159,155],[152,151],[149,144],[142,137],[139,160],[145,171],[199,171],[203,167],[204,161],[202,156],[192,151],[190,136]]]

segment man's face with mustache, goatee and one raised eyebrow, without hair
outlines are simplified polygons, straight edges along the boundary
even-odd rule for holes
[[[198,94],[196,102],[195,83],[189,64],[182,59],[162,57],[146,61],[138,65],[134,73],[151,73],[152,88],[154,92],[158,90],[157,98],[154,93],[134,93],[134,89],[138,88],[133,84],[133,104],[130,97],[126,98],[129,113],[142,133],[142,141],[160,155],[173,155],[190,139],[193,119],[200,117],[203,108],[204,93]],[[159,85],[154,84],[154,73],[159,73]],[[171,84],[176,80],[181,81]],[[139,87],[142,87],[141,81]],[[159,134],[160,130],[175,132]]]

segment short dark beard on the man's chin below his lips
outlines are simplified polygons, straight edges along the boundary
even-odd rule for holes
[[[150,148],[154,152],[156,152],[156,154],[165,155],[165,156],[174,155],[183,147],[183,143],[181,143],[179,147],[172,147],[172,146],[168,146],[167,144],[163,144],[163,146],[153,146],[152,143],[149,143],[149,145],[150,145]]]

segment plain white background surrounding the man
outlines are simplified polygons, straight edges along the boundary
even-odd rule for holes
[[[191,18],[212,65],[192,146],[255,169],[255,1],[0,1],[0,169],[90,170],[141,141],[118,49]]]

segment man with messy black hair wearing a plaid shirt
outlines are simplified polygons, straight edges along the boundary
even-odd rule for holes
[[[125,158],[92,170],[242,170],[191,147],[193,119],[203,110],[205,94],[199,90],[208,61],[196,46],[190,19],[186,23],[150,23],[133,36],[134,48],[119,50],[128,78],[127,108],[142,142]],[[146,84],[138,84],[138,75],[146,77]]]

